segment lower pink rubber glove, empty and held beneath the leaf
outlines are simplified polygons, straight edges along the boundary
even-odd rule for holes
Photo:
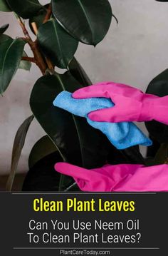
[[[88,170],[68,163],[56,163],[59,173],[72,176],[80,190],[112,191],[168,191],[168,165],[105,165]]]

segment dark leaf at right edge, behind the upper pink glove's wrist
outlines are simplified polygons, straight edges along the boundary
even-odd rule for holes
[[[155,77],[147,88],[147,93],[160,97],[168,95],[168,69]],[[145,123],[149,134],[152,135],[159,143],[168,142],[168,126],[157,121]]]

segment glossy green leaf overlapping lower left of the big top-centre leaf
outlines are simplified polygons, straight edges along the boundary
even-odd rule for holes
[[[37,38],[53,64],[59,68],[67,68],[78,48],[78,41],[66,33],[54,19],[40,26]]]

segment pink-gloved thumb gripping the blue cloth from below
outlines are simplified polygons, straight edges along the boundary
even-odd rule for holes
[[[88,118],[96,122],[119,123],[123,121],[122,116],[120,116],[120,108],[117,108],[117,106],[90,112]]]

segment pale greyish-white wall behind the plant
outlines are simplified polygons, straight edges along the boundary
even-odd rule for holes
[[[168,3],[154,0],[110,0],[110,3],[119,20],[118,26],[113,19],[103,42],[96,48],[80,44],[76,57],[93,83],[111,80],[145,90],[149,81],[168,66]],[[6,23],[10,24],[9,35],[22,35],[14,16],[1,13],[0,25]],[[34,65],[30,73],[18,71],[4,97],[0,97],[0,173],[9,172],[14,135],[31,115],[29,96],[39,76],[41,73]],[[28,170],[28,153],[44,134],[41,126],[33,121],[19,172]]]

